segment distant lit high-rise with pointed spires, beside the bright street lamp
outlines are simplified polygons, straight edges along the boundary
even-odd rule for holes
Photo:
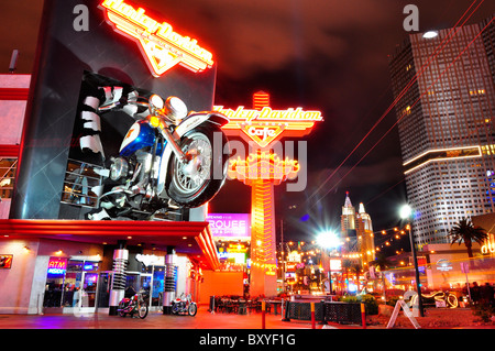
[[[361,202],[359,211],[355,211],[345,193],[345,202],[342,206],[341,232],[344,240],[342,253],[345,259],[359,261],[362,266],[375,260],[375,243],[373,224],[369,213]]]

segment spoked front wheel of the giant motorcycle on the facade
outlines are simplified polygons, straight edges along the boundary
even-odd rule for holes
[[[220,139],[216,142],[215,138]],[[223,153],[227,143],[224,133],[215,124],[198,127],[183,136],[180,149],[189,160],[183,163],[172,155],[168,166],[167,193],[175,202],[199,207],[215,197],[227,176],[229,154]],[[213,145],[221,149],[213,150]]]

